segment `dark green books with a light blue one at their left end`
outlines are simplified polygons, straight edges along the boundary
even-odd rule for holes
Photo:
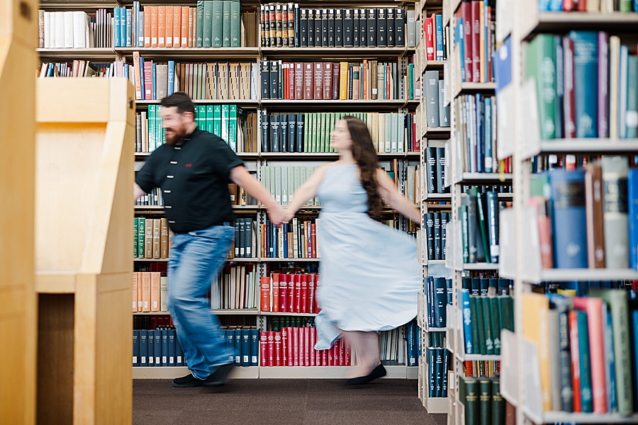
[[[514,298],[470,295],[459,289],[466,354],[500,354],[500,331],[514,331]]]

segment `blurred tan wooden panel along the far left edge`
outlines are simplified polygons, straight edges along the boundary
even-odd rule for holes
[[[0,422],[35,418],[33,200],[38,2],[0,0]]]

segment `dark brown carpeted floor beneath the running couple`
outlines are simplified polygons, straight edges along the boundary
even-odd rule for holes
[[[427,414],[417,381],[383,379],[364,387],[341,380],[235,379],[218,388],[174,388],[170,380],[133,381],[133,424],[444,425]]]

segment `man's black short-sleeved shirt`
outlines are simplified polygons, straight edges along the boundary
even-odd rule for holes
[[[234,219],[230,170],[243,164],[220,137],[195,130],[181,146],[155,149],[135,183],[146,193],[159,187],[171,230],[186,233]]]

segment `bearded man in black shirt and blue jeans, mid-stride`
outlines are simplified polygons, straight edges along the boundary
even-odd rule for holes
[[[220,137],[198,130],[195,106],[183,92],[162,100],[166,145],[155,149],[135,177],[135,199],[159,187],[169,227],[175,233],[169,259],[167,304],[190,375],[175,387],[223,385],[233,368],[233,348],[226,345],[206,295],[224,266],[235,236],[228,183],[242,186],[261,201],[274,225],[284,209],[244,168]]]

